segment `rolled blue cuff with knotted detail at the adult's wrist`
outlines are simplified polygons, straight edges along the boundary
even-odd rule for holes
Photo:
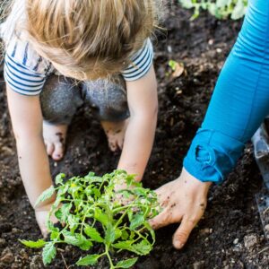
[[[230,136],[200,128],[183,165],[195,178],[221,184],[235,167],[244,147],[244,143]]]

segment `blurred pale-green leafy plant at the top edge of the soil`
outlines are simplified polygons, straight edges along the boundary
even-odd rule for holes
[[[218,19],[238,20],[244,16],[247,0],[179,0],[187,9],[194,9],[192,19],[199,16],[201,10],[207,10]]]

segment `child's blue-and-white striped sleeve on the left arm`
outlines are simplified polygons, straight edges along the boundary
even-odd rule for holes
[[[13,46],[13,48],[11,48]],[[4,80],[13,90],[23,95],[38,95],[46,81],[43,59],[32,52],[27,43],[8,46],[4,57]]]

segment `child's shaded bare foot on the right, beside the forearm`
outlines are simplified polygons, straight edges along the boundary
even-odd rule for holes
[[[108,147],[112,152],[122,150],[128,123],[129,119],[120,122],[101,121],[108,137]]]

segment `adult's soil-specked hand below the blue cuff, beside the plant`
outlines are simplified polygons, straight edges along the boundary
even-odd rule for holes
[[[178,179],[157,189],[163,211],[150,221],[152,228],[159,229],[181,221],[174,234],[173,245],[178,249],[184,247],[204,214],[211,184],[197,180],[183,169]]]

